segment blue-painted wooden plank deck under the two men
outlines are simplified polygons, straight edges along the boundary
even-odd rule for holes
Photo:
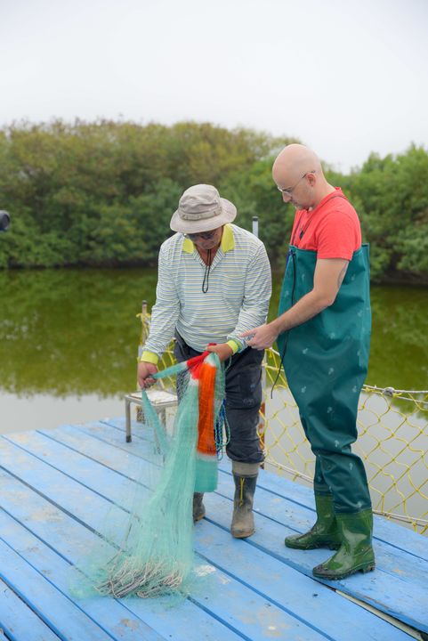
[[[144,458],[138,434],[135,425],[133,442],[125,443],[124,421],[117,419],[0,438],[0,641],[412,638],[379,613],[428,633],[427,538],[376,518],[376,572],[319,582],[311,568],[331,552],[283,544],[285,535],[313,522],[311,491],[262,471],[257,531],[233,540],[226,461],[218,490],[206,496],[207,518],[195,527],[197,554],[216,568],[214,589],[170,609],[139,598],[74,599],[69,566],[91,544],[97,515],[116,498],[129,452]]]

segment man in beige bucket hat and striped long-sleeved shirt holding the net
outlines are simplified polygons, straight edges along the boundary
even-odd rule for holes
[[[236,207],[212,185],[184,191],[171,219],[176,231],[160,247],[157,300],[149,337],[138,365],[141,387],[154,382],[157,361],[171,339],[175,356],[186,361],[208,349],[228,361],[226,452],[235,481],[231,533],[254,532],[253,499],[263,453],[257,434],[262,402],[262,351],[239,337],[266,320],[271,297],[271,267],[262,241],[232,222]],[[203,494],[195,493],[193,519],[205,515]]]

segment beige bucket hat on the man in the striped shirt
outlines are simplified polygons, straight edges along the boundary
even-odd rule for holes
[[[182,233],[211,231],[231,223],[236,215],[235,205],[230,200],[220,198],[213,185],[193,185],[182,194],[170,227]]]

